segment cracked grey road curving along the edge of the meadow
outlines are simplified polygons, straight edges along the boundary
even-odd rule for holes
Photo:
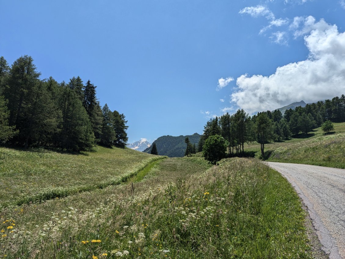
[[[345,169],[267,162],[295,188],[308,207],[329,258],[345,259]]]

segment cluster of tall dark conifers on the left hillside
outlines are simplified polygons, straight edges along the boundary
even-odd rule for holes
[[[125,115],[100,106],[96,87],[79,76],[68,83],[40,79],[31,56],[8,65],[0,57],[0,142],[27,148],[46,146],[65,151],[93,145],[125,147]]]

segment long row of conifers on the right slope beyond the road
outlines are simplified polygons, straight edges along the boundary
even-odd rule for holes
[[[206,139],[219,135],[226,140],[229,156],[244,155],[244,144],[258,142],[264,156],[264,145],[308,134],[323,123],[345,121],[345,96],[319,101],[286,110],[259,112],[249,116],[243,109],[230,115],[211,118],[204,126],[204,133],[198,143],[198,152],[203,151]],[[213,160],[214,162],[214,160]]]

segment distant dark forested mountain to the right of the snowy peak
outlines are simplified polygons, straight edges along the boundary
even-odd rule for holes
[[[186,151],[186,137],[189,138],[189,142],[196,145],[198,148],[198,142],[201,135],[194,133],[193,135],[187,136],[161,136],[157,138],[154,143],[156,143],[158,155],[169,156],[169,157],[183,157]],[[152,143],[153,144],[153,143]],[[150,153],[151,147],[146,148],[143,152]]]

